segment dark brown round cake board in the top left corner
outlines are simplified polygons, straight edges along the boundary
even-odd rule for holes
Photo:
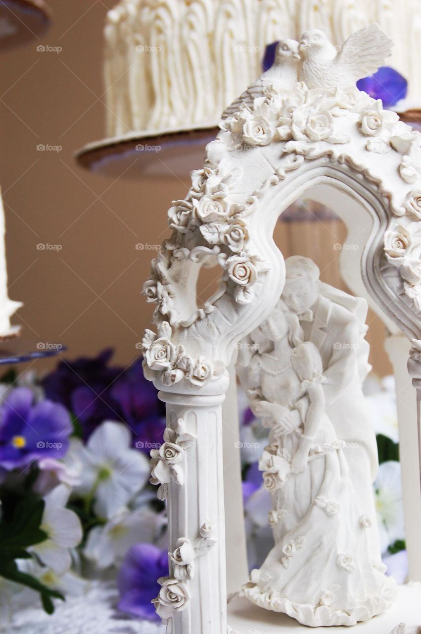
[[[0,51],[41,37],[50,18],[44,0],[0,0]]]

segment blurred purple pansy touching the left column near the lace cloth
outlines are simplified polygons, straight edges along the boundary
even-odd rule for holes
[[[142,619],[160,621],[151,601],[158,596],[158,579],[168,576],[168,553],[151,544],[130,548],[118,574],[118,608]]]

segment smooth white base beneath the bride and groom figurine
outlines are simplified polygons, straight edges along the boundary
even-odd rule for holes
[[[235,634],[309,634],[311,628],[300,625],[286,614],[264,610],[245,597],[234,597],[228,605],[228,623]],[[389,610],[369,621],[357,623],[353,634],[390,634],[405,623],[408,634],[421,624],[421,583],[398,586],[398,599]],[[317,628],[327,634],[344,634],[344,626]],[[349,630],[350,631],[350,630]]]

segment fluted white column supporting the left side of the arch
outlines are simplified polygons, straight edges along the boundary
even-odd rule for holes
[[[196,437],[180,463],[184,483],[171,482],[168,486],[170,551],[181,538],[194,543],[205,524],[211,527],[211,539],[215,540],[212,548],[194,560],[188,582],[190,598],[184,609],[175,611],[168,621],[171,634],[227,631],[222,402],[228,384],[228,375],[196,390],[184,382],[172,387],[155,383],[160,389],[158,396],[167,404],[167,426],[176,429],[182,418],[185,431]]]

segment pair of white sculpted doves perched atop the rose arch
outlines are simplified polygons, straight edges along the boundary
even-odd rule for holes
[[[298,81],[309,88],[355,86],[358,79],[374,74],[384,65],[392,46],[393,41],[376,23],[356,31],[339,53],[319,29],[303,33],[301,42],[284,39],[277,45],[273,66],[224,110],[222,119],[242,108],[252,109],[253,100],[264,96],[269,85],[279,91],[289,91]]]

